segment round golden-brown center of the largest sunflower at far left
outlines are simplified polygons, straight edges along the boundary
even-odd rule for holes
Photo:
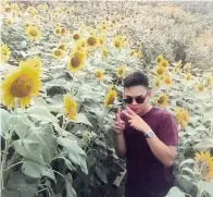
[[[10,89],[10,93],[17,98],[27,97],[34,87],[34,83],[30,76],[22,75],[17,77]]]

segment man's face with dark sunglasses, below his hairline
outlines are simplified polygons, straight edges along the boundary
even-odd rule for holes
[[[126,99],[126,106],[128,106],[136,113],[142,113],[148,106],[151,91],[145,86],[133,86],[124,88],[124,99]]]

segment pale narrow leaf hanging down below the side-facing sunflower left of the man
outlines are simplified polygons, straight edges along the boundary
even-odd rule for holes
[[[68,159],[78,164],[85,174],[88,174],[85,151],[78,146],[76,140],[59,137],[58,143],[68,150]]]

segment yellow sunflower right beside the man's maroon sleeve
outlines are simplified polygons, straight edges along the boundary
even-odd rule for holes
[[[186,109],[184,109],[184,108],[176,109],[175,115],[176,115],[178,124],[181,127],[186,127],[188,125],[188,123],[190,121],[190,116],[189,116],[189,113]]]

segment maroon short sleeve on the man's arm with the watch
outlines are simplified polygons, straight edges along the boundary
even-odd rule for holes
[[[156,136],[167,146],[177,146],[178,127],[174,115],[164,111],[160,120]]]

